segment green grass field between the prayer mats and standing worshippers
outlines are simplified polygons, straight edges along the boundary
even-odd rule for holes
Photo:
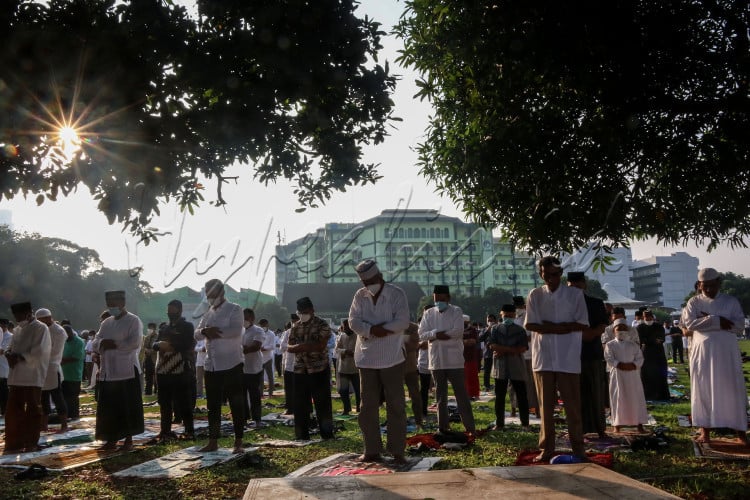
[[[741,341],[740,349],[750,353],[750,341]],[[670,365],[673,366],[673,365]],[[684,385],[689,394],[687,365],[678,368],[676,384]],[[750,363],[745,363],[745,373]],[[146,397],[151,401],[154,397]],[[84,403],[90,403],[86,399]],[[280,404],[280,398],[264,400]],[[493,403],[474,403],[477,428],[487,427],[494,420]],[[409,410],[407,408],[407,410]],[[157,411],[156,409],[149,409]],[[225,412],[228,410],[225,409]],[[341,403],[334,399],[334,413],[341,411]],[[671,404],[654,405],[649,412],[659,425],[668,427],[669,446],[659,451],[615,452],[614,470],[629,477],[661,488],[674,495],[690,499],[744,499],[750,498],[750,463],[696,458],[691,442],[692,429],[677,425],[678,415],[690,413],[687,399]],[[383,420],[385,415],[383,412]],[[152,458],[159,457],[192,443],[150,446],[124,456],[119,456],[75,471],[50,475],[35,481],[15,481],[14,469],[0,468],[1,498],[241,498],[250,479],[281,477],[314,460],[337,452],[361,452],[362,441],[356,420],[348,421],[337,439],[304,448],[262,448],[257,467],[240,468],[228,463],[200,470],[179,480],[124,480],[113,479],[110,473]],[[454,424],[457,426],[459,424]],[[458,427],[454,427],[458,429]],[[261,436],[293,439],[291,427],[273,426],[261,431],[248,432],[245,441]],[[538,434],[521,432],[490,432],[477,439],[474,446],[462,451],[438,451],[443,457],[436,468],[453,469],[513,465],[518,451],[536,448]],[[198,444],[205,439],[198,440]],[[232,438],[223,438],[221,446],[231,447]]]

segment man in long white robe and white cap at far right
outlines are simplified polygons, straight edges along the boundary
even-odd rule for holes
[[[719,293],[721,279],[712,268],[698,272],[700,294],[682,311],[693,332],[690,349],[690,405],[696,438],[707,443],[711,428],[734,429],[747,444],[747,392],[737,336],[745,326],[739,301]]]

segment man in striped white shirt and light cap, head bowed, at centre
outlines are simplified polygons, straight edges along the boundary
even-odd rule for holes
[[[359,369],[362,407],[359,427],[365,451],[361,461],[381,459],[380,395],[387,410],[387,449],[396,463],[404,463],[406,409],[404,398],[403,334],[409,326],[409,304],[404,291],[383,280],[376,262],[367,259],[355,270],[364,285],[349,309],[349,325],[357,334],[354,363]]]

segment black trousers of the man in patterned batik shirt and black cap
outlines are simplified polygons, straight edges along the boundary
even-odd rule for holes
[[[296,439],[310,439],[311,398],[315,403],[320,437],[322,439],[333,438],[330,367],[317,373],[294,374],[294,437]]]

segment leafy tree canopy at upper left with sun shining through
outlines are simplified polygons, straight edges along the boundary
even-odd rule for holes
[[[146,242],[159,203],[193,210],[201,178],[252,164],[301,208],[375,182],[395,77],[354,0],[7,0],[0,6],[0,193],[83,184]],[[77,135],[61,133],[76,129]]]

